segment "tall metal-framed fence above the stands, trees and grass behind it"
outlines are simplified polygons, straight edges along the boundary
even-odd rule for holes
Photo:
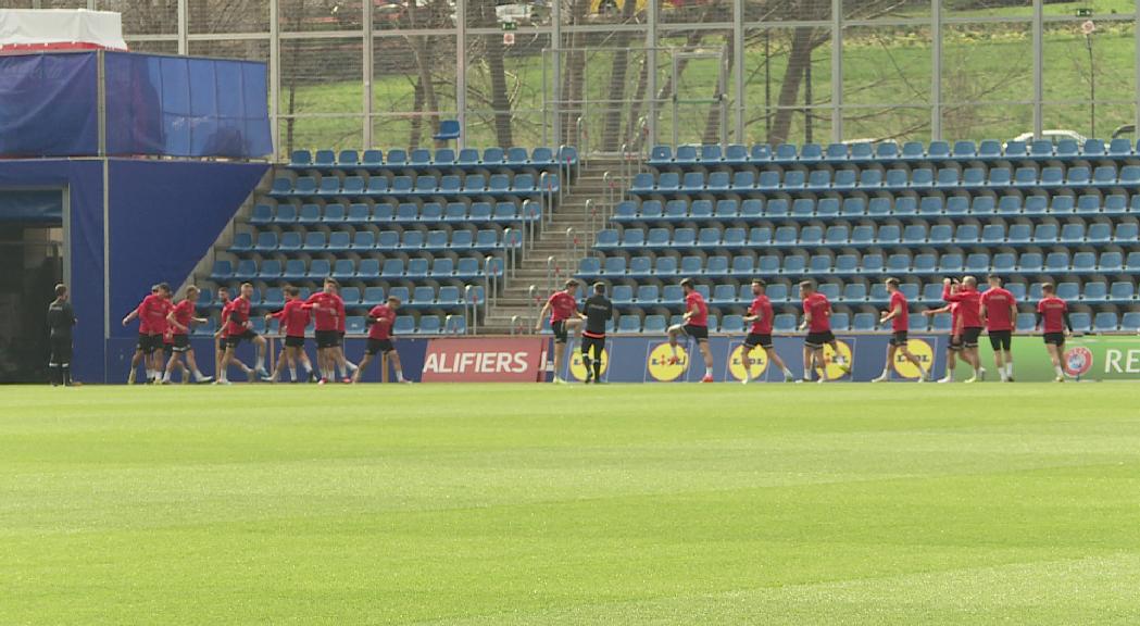
[[[8,0],[266,60],[294,148],[1011,139],[1135,124],[1134,0]]]

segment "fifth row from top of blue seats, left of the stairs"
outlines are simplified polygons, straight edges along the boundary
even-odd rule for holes
[[[455,278],[471,279],[484,275],[486,261],[464,258],[453,260],[447,257],[434,259],[312,259],[306,263],[302,259],[290,259],[282,263],[276,259],[267,259],[260,263],[253,259],[243,259],[236,267],[230,261],[214,261],[210,278],[215,283],[227,281],[311,281],[320,282],[332,276],[339,281],[378,281],[394,278]],[[497,271],[502,271],[502,260],[491,261]]]

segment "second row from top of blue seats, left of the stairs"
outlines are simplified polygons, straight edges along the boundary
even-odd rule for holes
[[[494,195],[538,195],[557,192],[559,177],[554,173],[543,173],[537,179],[534,174],[469,174],[461,177],[448,174],[437,178],[431,174],[418,177],[397,176],[389,180],[383,176],[365,178],[348,176],[341,180],[335,176],[326,176],[319,180],[316,177],[302,176],[296,180],[288,177],[274,179],[269,192],[272,197],[356,197],[356,196],[494,196]]]

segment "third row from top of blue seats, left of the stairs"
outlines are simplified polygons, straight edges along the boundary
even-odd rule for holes
[[[347,209],[343,204],[258,204],[253,208],[253,225],[353,225],[353,223],[415,223],[415,222],[516,222],[537,220],[542,205],[537,202],[438,202],[423,204],[405,202],[376,205],[357,203]]]

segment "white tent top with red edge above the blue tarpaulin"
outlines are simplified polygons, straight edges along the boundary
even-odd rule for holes
[[[125,49],[117,13],[0,9],[0,54]]]

